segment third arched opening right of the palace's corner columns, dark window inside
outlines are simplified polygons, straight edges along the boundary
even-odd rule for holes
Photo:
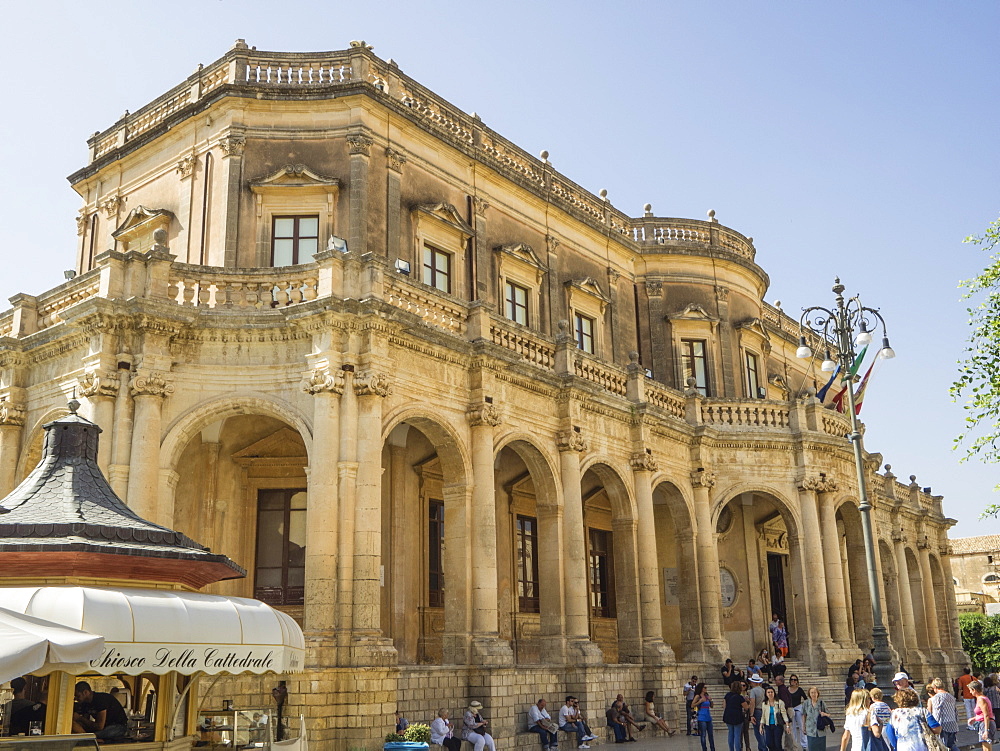
[[[609,663],[639,662],[642,631],[636,515],[622,474],[596,462],[581,479],[588,557],[590,639]]]

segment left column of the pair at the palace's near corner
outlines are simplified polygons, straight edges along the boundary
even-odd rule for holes
[[[339,396],[344,373],[317,368],[302,384],[313,396],[313,441],[309,457],[306,518],[305,627],[329,632],[337,603],[337,464]]]

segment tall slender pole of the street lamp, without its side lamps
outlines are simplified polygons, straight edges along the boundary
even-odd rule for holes
[[[854,362],[853,331],[851,327],[851,315],[844,302],[844,285],[837,280],[833,285],[833,292],[837,295],[837,316],[835,331],[840,339],[840,358],[849,369]],[[889,651],[889,631],[885,627],[885,619],[882,613],[882,598],[879,596],[878,568],[875,563],[875,533],[872,529],[872,504],[868,498],[868,482],[865,476],[864,446],[862,445],[861,430],[858,424],[858,415],[855,410],[854,389],[851,380],[847,382],[847,414],[851,419],[851,432],[847,439],[854,448],[854,469],[858,478],[858,511],[861,512],[861,532],[864,536],[865,545],[865,565],[868,569],[868,593],[872,603],[872,655],[875,657],[875,683],[883,690],[888,690],[892,686],[892,676],[895,668],[892,665],[892,653]]]

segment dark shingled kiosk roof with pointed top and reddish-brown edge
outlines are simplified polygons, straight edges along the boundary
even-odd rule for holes
[[[41,462],[0,500],[4,574],[104,572],[194,587],[245,576],[226,556],[146,521],[125,505],[97,466],[101,429],[76,414],[78,408],[79,402],[70,402],[68,416],[43,426]]]

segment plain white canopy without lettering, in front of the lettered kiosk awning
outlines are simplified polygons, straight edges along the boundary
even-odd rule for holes
[[[28,673],[86,670],[104,638],[0,608],[0,683]]]

